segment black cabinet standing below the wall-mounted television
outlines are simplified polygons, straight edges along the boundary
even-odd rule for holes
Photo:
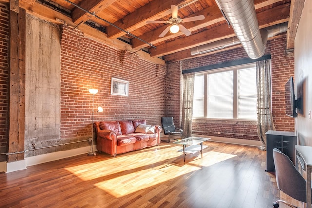
[[[273,149],[278,148],[281,152],[286,154],[292,163],[296,162],[297,136],[294,132],[272,131],[265,133],[267,135],[267,172],[275,172],[275,165],[273,159]]]

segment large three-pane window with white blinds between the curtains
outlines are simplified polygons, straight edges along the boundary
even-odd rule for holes
[[[195,73],[193,117],[256,119],[255,63]]]

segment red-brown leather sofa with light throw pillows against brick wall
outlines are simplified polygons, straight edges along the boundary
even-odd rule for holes
[[[146,120],[95,122],[98,151],[112,156],[152,147],[160,143],[160,126]]]

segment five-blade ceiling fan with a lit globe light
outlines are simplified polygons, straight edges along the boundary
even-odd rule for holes
[[[182,33],[184,33],[186,36],[191,35],[191,31],[189,31],[188,29],[186,29],[183,25],[181,25],[180,23],[184,23],[184,22],[190,22],[190,21],[197,21],[197,20],[203,20],[205,19],[205,16],[203,15],[198,15],[198,16],[194,16],[194,17],[189,17],[189,18],[184,18],[181,19],[178,15],[177,15],[177,10],[178,7],[175,5],[171,6],[171,17],[169,18],[168,21],[147,21],[146,23],[150,24],[150,23],[154,23],[154,24],[161,24],[161,23],[165,23],[165,24],[170,24],[170,26],[168,26],[160,35],[159,37],[164,37],[170,30],[170,32],[172,33],[177,33],[179,31],[181,31]]]

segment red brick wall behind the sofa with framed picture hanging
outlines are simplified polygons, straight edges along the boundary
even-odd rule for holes
[[[111,95],[111,78],[129,81],[129,96]],[[165,67],[137,54],[108,47],[63,27],[61,39],[61,137],[91,135],[92,95],[97,88],[94,120],[146,119],[160,125],[164,115]]]

